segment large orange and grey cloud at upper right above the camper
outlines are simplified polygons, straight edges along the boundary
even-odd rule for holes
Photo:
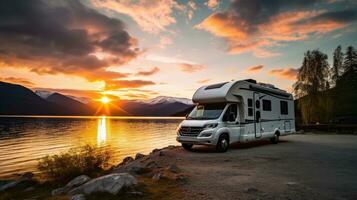
[[[267,48],[279,42],[304,40],[341,29],[357,19],[356,6],[339,11],[314,10],[320,4],[327,3],[319,0],[233,0],[227,11],[210,15],[196,27],[224,38],[230,53],[276,56],[277,53]]]

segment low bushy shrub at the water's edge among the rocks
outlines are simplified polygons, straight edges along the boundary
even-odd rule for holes
[[[41,158],[38,169],[49,179],[68,181],[82,174],[90,176],[104,171],[111,158],[111,151],[85,145],[71,148],[66,153]]]

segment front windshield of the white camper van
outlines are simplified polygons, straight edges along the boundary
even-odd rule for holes
[[[198,104],[188,115],[187,119],[217,119],[225,106],[225,103]]]

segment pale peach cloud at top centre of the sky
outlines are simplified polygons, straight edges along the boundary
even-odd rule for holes
[[[176,23],[173,11],[183,9],[174,0],[92,0],[94,6],[129,15],[144,31],[159,33],[167,31]]]

